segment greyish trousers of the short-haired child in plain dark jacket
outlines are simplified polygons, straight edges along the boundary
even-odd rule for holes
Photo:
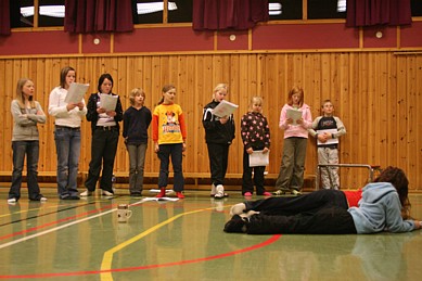
[[[129,153],[129,191],[139,194],[143,190],[143,167],[145,164],[146,143],[127,144]]]

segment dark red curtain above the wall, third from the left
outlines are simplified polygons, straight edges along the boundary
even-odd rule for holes
[[[194,30],[242,30],[268,18],[268,0],[193,0]]]

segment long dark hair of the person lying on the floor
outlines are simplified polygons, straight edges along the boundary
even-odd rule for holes
[[[401,217],[410,218],[409,180],[402,169],[397,167],[386,167],[374,182],[391,182],[397,190],[401,203]]]

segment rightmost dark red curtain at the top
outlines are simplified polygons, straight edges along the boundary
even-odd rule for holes
[[[408,25],[410,0],[347,0],[346,26]]]

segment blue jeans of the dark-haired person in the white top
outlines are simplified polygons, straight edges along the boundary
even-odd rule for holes
[[[61,199],[78,196],[77,179],[80,155],[80,128],[55,127],[57,153],[57,193]]]

